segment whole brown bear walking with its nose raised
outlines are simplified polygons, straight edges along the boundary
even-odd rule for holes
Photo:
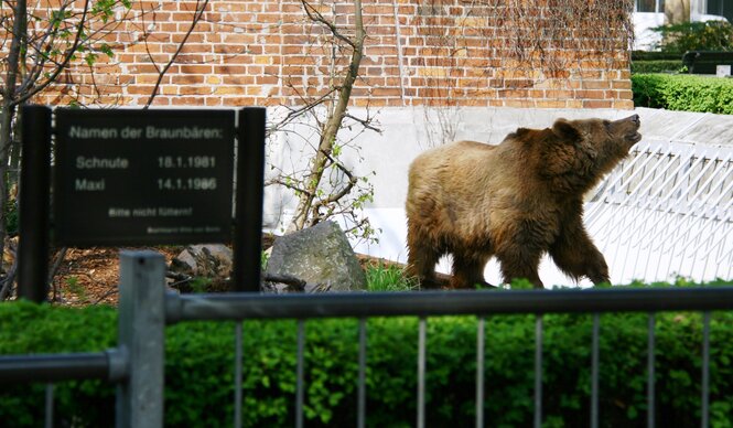
[[[639,117],[558,119],[519,128],[498,146],[457,141],[410,165],[408,274],[435,287],[435,264],[453,256],[452,288],[484,282],[496,256],[504,281],[538,276],[547,252],[578,280],[608,282],[608,267],[583,226],[583,194],[642,139]]]

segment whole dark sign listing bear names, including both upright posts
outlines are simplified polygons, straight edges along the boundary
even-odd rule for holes
[[[259,291],[265,108],[55,113],[54,129],[50,107],[21,107],[19,297],[47,298],[52,229],[60,246],[231,243],[233,289]]]

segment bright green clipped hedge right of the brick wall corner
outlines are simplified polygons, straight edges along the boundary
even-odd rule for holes
[[[733,79],[694,75],[635,74],[636,107],[733,115]]]

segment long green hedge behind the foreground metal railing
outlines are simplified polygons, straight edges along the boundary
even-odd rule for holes
[[[367,324],[367,424],[410,427],[416,420],[418,321],[370,319]],[[590,315],[545,317],[543,411],[547,427],[588,426],[591,393]],[[645,314],[601,317],[600,392],[604,427],[646,421]],[[195,322],[166,329],[165,425],[233,422],[234,323]],[[249,427],[294,425],[297,325],[244,323],[244,417]],[[356,420],[358,325],[354,320],[306,322],[305,425],[346,427]],[[486,420],[531,426],[535,318],[486,321]],[[115,346],[116,311],[0,304],[0,354],[85,352]],[[701,315],[660,313],[656,328],[659,426],[700,420]],[[428,321],[427,420],[474,425],[476,320]],[[711,426],[733,427],[733,313],[711,321]],[[114,387],[101,382],[56,385],[56,426],[114,424]],[[43,386],[2,386],[0,425],[42,426]]]

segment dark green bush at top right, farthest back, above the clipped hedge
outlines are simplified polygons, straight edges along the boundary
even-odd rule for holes
[[[661,34],[661,52],[733,51],[733,25],[727,21],[685,22],[653,30]]]

